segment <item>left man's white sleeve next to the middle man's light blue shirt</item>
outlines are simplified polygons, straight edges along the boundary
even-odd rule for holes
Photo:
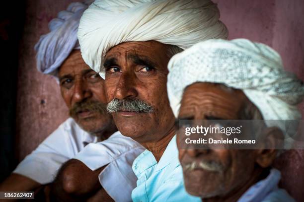
[[[91,170],[107,165],[98,176],[101,186],[116,202],[131,202],[137,181],[132,163],[144,150],[138,142],[116,132],[107,140],[88,144],[74,158]]]

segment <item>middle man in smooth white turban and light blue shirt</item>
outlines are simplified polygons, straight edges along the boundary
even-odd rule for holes
[[[95,0],[81,17],[81,54],[105,78],[107,109],[118,130],[147,149],[133,162],[134,202],[200,201],[183,185],[167,63],[200,41],[226,38],[219,17],[211,0]]]

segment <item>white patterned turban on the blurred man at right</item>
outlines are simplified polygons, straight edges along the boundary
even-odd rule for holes
[[[207,40],[173,56],[168,69],[167,91],[176,117],[184,89],[195,82],[211,82],[242,90],[264,120],[301,119],[297,104],[304,97],[304,84],[286,72],[280,55],[264,44]],[[283,125],[277,127],[284,132]]]

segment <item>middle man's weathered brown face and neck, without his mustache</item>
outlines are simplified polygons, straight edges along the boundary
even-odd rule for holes
[[[104,60],[108,102],[141,99],[152,113],[117,112],[118,130],[150,150],[158,161],[173,137],[174,116],[167,97],[167,45],[156,41],[127,42],[110,49]]]

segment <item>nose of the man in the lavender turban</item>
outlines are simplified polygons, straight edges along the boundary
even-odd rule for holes
[[[73,104],[92,96],[92,91],[88,88],[85,80],[77,79],[74,84]]]

